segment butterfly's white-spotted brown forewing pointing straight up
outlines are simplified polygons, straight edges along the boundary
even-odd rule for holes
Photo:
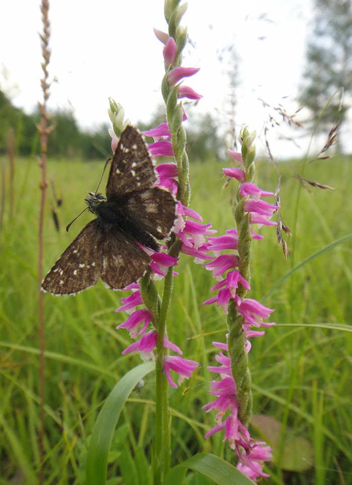
[[[107,199],[148,189],[155,182],[154,165],[143,138],[134,127],[128,125],[122,132],[111,162],[106,186]]]

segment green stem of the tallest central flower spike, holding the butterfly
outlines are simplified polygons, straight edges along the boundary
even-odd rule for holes
[[[180,20],[186,11],[187,4],[179,6],[180,0],[165,0],[164,14],[168,23],[169,36],[177,44],[177,54],[172,67],[180,66],[182,62],[182,50],[187,42],[187,30],[180,27]],[[167,80],[169,66],[161,83],[161,92],[166,106],[166,120],[171,134],[172,149],[175,162],[178,166],[179,193],[181,202],[188,207],[190,201],[189,163],[186,154],[186,131],[182,126],[183,109],[181,102],[178,103],[178,86],[170,86]],[[169,243],[168,254],[174,258],[179,256],[181,244],[178,240]],[[169,268],[164,279],[164,287],[161,302],[150,299],[150,307],[157,304],[157,330],[158,340],[156,344],[155,372],[156,372],[156,396],[155,396],[155,448],[154,448],[154,485],[160,485],[162,478],[170,468],[171,435],[170,435],[170,410],[168,405],[168,382],[163,370],[163,361],[167,355],[164,348],[164,336],[166,335],[166,317],[171,300],[173,287],[173,268]],[[143,301],[144,298],[143,298]],[[155,313],[153,312],[155,315]]]

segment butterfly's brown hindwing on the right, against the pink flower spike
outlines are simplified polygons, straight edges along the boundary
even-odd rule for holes
[[[128,210],[138,214],[139,224],[157,239],[165,239],[174,225],[176,201],[173,195],[161,187],[152,187],[131,194]]]

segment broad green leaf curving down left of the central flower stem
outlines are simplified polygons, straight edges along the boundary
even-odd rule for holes
[[[139,381],[154,370],[154,362],[141,364],[129,371],[109,394],[91,436],[85,470],[86,485],[105,485],[108,453],[121,410]]]

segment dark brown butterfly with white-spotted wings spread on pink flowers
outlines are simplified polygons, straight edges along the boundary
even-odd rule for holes
[[[106,198],[88,192],[84,199],[97,218],[62,253],[41,289],[72,295],[101,278],[117,290],[143,276],[151,258],[137,243],[160,251],[156,239],[169,236],[176,218],[177,201],[156,182],[148,148],[141,134],[128,125],[111,162]]]

